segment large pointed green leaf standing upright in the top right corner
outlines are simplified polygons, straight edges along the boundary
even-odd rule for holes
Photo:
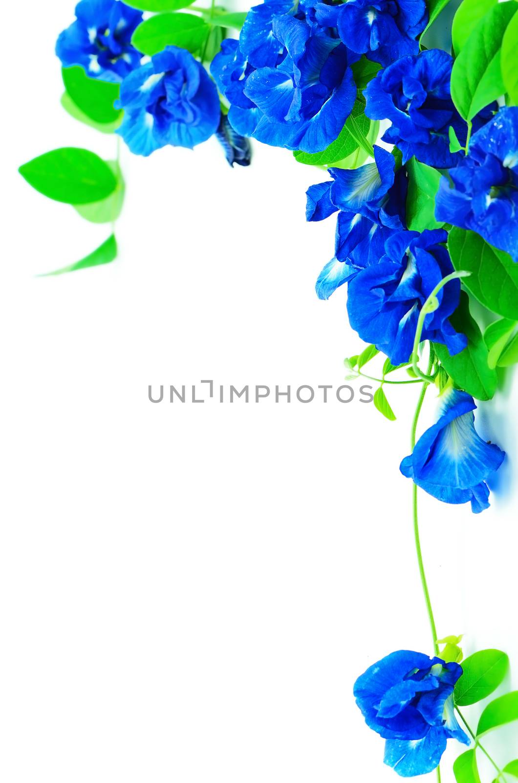
[[[466,121],[505,92],[500,47],[516,9],[514,0],[495,5],[474,28],[453,63],[451,97]]]

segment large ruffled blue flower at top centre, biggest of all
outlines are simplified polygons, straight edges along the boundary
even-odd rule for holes
[[[240,135],[314,153],[344,127],[356,98],[351,56],[311,5],[271,0],[246,16],[237,41],[224,41],[210,72],[230,103]],[[292,9],[292,13],[288,13]]]

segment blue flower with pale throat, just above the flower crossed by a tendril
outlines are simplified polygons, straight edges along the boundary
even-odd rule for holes
[[[377,263],[390,234],[405,228],[405,171],[401,168],[394,175],[394,156],[379,146],[374,147],[374,160],[351,170],[329,168],[333,182],[308,189],[308,221],[323,220],[340,210],[335,257],[322,269],[316,283],[320,299],[329,299],[360,269]]]

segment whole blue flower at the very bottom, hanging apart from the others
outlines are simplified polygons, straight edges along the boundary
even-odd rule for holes
[[[436,769],[448,739],[469,745],[455,719],[457,663],[401,650],[371,666],[354,684],[365,722],[387,740],[385,763],[402,778]]]

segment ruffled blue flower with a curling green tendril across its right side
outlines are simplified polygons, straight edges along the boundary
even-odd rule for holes
[[[362,340],[387,354],[394,366],[408,362],[419,312],[437,283],[453,272],[441,244],[447,236],[442,229],[393,233],[380,262],[362,269],[349,283],[351,327]],[[428,313],[423,328],[423,340],[446,345],[452,356],[467,345],[466,337],[457,334],[448,321],[459,298],[459,280],[446,283],[437,294],[439,306]]]

